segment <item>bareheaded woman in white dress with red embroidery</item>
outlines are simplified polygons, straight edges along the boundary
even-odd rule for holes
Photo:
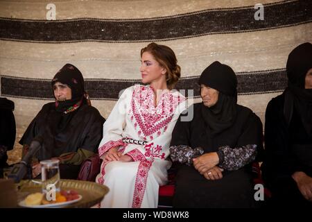
[[[150,85],[125,89],[103,126],[96,182],[110,191],[101,207],[157,207],[159,185],[167,181],[171,132],[185,106],[172,90],[180,66],[172,49],[150,43],[141,49],[140,71]]]

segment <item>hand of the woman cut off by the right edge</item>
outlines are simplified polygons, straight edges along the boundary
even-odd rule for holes
[[[301,171],[293,173],[292,177],[295,182],[297,182],[297,187],[302,196],[304,196],[306,200],[312,201],[312,178]]]

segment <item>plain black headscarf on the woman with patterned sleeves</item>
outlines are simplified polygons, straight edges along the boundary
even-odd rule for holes
[[[207,67],[198,81],[218,90],[218,101],[211,108],[201,104],[202,117],[209,135],[217,135],[233,125],[237,114],[237,78],[233,69],[216,61]]]

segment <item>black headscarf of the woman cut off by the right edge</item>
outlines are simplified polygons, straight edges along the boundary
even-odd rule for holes
[[[304,88],[309,69],[312,69],[312,44],[306,42],[293,49],[288,56],[288,87],[284,92],[284,115],[289,124],[295,108],[300,114],[306,133],[312,136],[312,89]]]

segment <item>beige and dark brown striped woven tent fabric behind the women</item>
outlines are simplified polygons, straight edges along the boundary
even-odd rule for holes
[[[263,0],[0,1],[0,96],[15,102],[17,141],[44,103],[65,63],[85,77],[94,105],[107,117],[122,89],[140,82],[139,52],[149,42],[170,46],[182,68],[177,89],[194,89],[211,62],[231,66],[239,104],[264,123],[266,105],[286,87],[288,53],[312,42],[312,2]],[[21,146],[9,152],[19,161]]]

